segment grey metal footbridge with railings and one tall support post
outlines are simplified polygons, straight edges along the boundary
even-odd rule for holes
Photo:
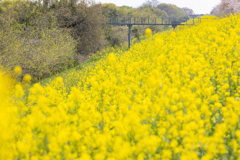
[[[125,25],[128,27],[128,48],[130,48],[131,45],[131,27],[133,25],[165,25],[172,26],[175,29],[178,25],[194,25],[196,22],[201,22],[201,19],[193,18],[190,22],[188,17],[108,17],[107,19],[105,19],[105,24],[107,25]]]

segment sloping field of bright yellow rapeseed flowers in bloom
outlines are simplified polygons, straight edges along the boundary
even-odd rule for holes
[[[155,34],[25,95],[0,74],[0,159],[239,159],[239,40],[230,16]]]

